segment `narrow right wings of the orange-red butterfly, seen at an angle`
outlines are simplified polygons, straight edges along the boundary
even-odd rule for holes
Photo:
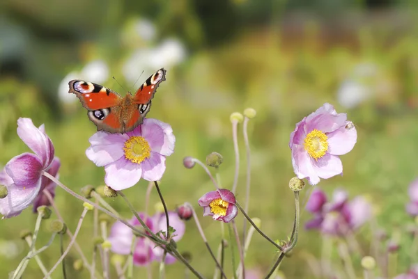
[[[125,131],[132,131],[144,122],[146,113],[150,111],[151,99],[153,99],[157,87],[165,81],[166,70],[161,68],[138,88],[132,99],[132,113],[124,120]]]

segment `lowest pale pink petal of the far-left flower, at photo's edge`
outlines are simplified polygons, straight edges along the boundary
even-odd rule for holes
[[[8,195],[0,199],[0,213],[4,218],[17,216],[23,209],[29,207],[40,191],[39,179],[35,184],[21,187],[11,184],[7,186]]]

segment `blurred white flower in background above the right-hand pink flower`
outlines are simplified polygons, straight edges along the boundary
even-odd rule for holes
[[[341,84],[341,87],[336,95],[336,99],[339,104],[347,109],[352,109],[355,106],[358,106],[370,97],[371,89],[369,86],[365,86],[362,83],[350,79]]]

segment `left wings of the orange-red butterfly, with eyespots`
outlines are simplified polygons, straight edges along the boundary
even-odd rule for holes
[[[88,110],[88,118],[98,127],[98,131],[124,131],[120,117],[123,98],[118,93],[96,83],[78,79],[70,81],[68,86],[68,93],[77,95]]]

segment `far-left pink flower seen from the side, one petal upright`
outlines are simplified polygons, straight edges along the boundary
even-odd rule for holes
[[[44,125],[37,128],[31,119],[19,118],[17,134],[35,154],[26,152],[13,157],[1,172],[0,184],[5,185],[8,190],[8,196],[0,200],[3,218],[17,216],[35,202],[42,186],[47,186],[47,180],[42,177],[42,173],[55,165],[54,145],[45,134]],[[55,172],[58,168],[59,166],[54,166],[50,171]]]

